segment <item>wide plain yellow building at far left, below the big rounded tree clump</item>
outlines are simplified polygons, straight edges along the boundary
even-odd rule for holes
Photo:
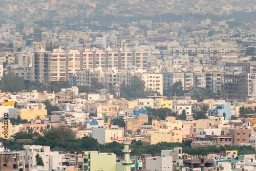
[[[20,118],[27,119],[28,121],[30,119],[35,119],[37,115],[44,119],[47,115],[47,110],[36,110],[35,108],[32,108],[31,110],[16,110],[15,118],[17,118],[18,115]]]

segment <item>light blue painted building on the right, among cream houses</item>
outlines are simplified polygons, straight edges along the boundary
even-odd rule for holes
[[[216,104],[216,109],[210,109],[208,116],[221,117],[226,114],[225,120],[231,119],[231,104]]]

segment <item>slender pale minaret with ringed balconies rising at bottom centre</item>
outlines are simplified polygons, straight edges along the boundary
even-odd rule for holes
[[[124,133],[123,144],[124,144],[124,149],[122,149],[122,152],[124,153],[124,157],[122,161],[123,171],[131,171],[132,161],[130,159],[130,153],[132,152],[132,149],[129,149],[129,144],[131,144],[131,141],[130,141],[130,136],[127,132]]]

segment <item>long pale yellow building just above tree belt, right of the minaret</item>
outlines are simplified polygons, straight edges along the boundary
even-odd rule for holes
[[[182,142],[182,131],[181,130],[151,130],[142,133],[144,139],[142,139],[145,144],[157,144],[159,142]]]

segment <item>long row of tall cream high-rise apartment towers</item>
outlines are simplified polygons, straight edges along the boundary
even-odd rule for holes
[[[34,80],[39,82],[67,81],[70,76],[76,75],[77,72],[88,71],[89,69],[116,67],[119,70],[127,70],[132,66],[147,69],[147,51],[131,51],[128,48],[120,48],[118,51],[106,48],[103,51],[92,48],[83,49],[80,52],[57,48],[48,52],[39,48],[37,52],[34,52],[32,63]],[[115,81],[115,78],[111,78],[109,81]]]

